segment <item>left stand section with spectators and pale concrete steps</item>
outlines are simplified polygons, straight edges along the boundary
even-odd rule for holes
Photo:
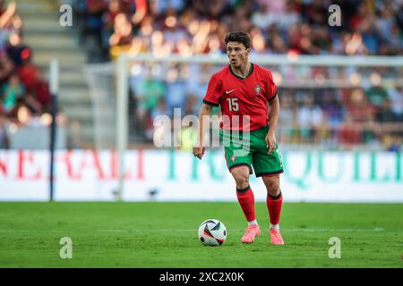
[[[57,146],[85,147],[93,141],[90,95],[82,68],[86,56],[73,29],[59,24],[62,3],[0,1],[0,114],[4,129],[0,141],[8,137],[8,147],[47,148],[48,138],[31,139],[30,134],[41,130],[40,134],[47,135],[48,64],[54,57],[61,70]]]

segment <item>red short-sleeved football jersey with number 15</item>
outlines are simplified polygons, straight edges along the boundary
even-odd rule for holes
[[[211,76],[203,102],[221,105],[224,130],[257,130],[267,125],[267,102],[277,96],[271,72],[251,63],[251,70],[243,79],[230,65]]]

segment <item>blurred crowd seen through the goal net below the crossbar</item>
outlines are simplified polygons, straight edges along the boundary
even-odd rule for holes
[[[357,146],[399,150],[403,139],[403,88],[383,85],[403,77],[402,69],[266,66],[279,84],[279,140],[291,146],[320,144],[327,149]],[[198,115],[215,64],[133,64],[130,122],[152,141],[159,115]],[[330,70],[330,74],[325,70]],[[292,82],[296,74],[304,73]],[[334,77],[331,74],[335,74]],[[288,78],[287,78],[288,76]],[[289,80],[289,84],[285,84]],[[336,80],[339,84],[331,84]],[[284,84],[283,84],[284,83]],[[328,85],[329,83],[329,85]],[[219,115],[219,108],[213,114]],[[188,148],[191,144],[185,144]]]

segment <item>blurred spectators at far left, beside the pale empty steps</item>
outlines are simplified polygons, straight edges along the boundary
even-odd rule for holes
[[[50,120],[47,80],[31,61],[16,6],[0,0],[0,148],[9,147],[7,130],[47,125]]]

